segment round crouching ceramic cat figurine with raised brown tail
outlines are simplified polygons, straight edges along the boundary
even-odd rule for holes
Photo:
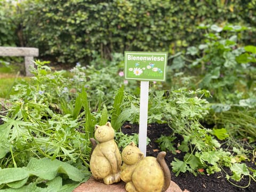
[[[162,151],[155,157],[144,157],[140,149],[130,143],[123,149],[121,179],[128,192],[163,192],[171,183],[171,173]]]

